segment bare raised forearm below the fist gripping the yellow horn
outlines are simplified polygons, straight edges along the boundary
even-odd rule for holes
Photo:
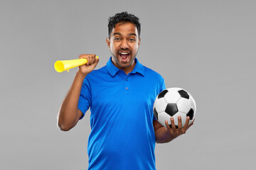
[[[60,106],[60,111],[58,113],[58,126],[61,130],[70,130],[79,120],[78,101],[84,79],[85,75],[82,75],[79,72],[75,75],[73,84]]]

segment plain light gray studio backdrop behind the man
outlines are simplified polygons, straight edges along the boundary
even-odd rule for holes
[[[107,19],[129,11],[142,23],[138,59],[166,87],[196,99],[186,135],[156,145],[157,169],[255,169],[255,1],[0,1],[0,169],[87,169],[90,112],[57,126],[77,69],[56,60],[110,57]]]

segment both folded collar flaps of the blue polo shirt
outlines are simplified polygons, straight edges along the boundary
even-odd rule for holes
[[[139,62],[139,60],[137,60],[137,58],[135,58],[135,63],[136,64],[134,69],[132,70],[132,73],[139,73],[142,74],[142,76],[144,76],[143,65]],[[117,72],[119,71],[119,69],[115,67],[112,63],[112,57],[110,57],[110,60],[108,60],[107,62],[107,71],[110,73],[110,75],[112,75],[112,77],[114,77],[114,75],[117,74]]]

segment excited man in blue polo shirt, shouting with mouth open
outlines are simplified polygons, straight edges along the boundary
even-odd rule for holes
[[[137,60],[139,18],[127,12],[109,19],[107,45],[112,57],[95,69],[96,55],[80,55],[79,67],[58,115],[61,130],[70,130],[90,108],[92,131],[88,140],[88,169],[156,169],[155,143],[170,142],[189,128],[178,128],[154,118],[153,104],[166,87],[164,79]]]

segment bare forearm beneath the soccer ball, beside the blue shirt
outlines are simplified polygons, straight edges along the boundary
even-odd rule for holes
[[[156,143],[167,143],[174,140],[177,136],[174,136],[169,133],[166,127],[162,126],[155,130]]]

